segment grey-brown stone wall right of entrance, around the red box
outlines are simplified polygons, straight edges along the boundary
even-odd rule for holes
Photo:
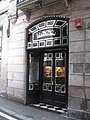
[[[90,1],[72,1],[69,28],[69,116],[90,119]],[[83,27],[76,29],[74,20],[82,18]]]

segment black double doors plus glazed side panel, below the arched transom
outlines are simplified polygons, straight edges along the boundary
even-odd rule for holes
[[[28,54],[27,101],[67,106],[68,52],[53,51]]]

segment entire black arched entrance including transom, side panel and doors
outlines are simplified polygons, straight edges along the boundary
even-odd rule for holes
[[[67,107],[68,20],[47,17],[27,28],[27,103]]]

